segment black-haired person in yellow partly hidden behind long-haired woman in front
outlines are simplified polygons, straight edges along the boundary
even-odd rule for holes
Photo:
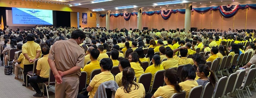
[[[117,73],[115,76],[115,82],[118,84],[119,87],[122,86],[123,69],[125,69],[126,67],[131,67],[129,60],[124,58],[119,60],[118,69],[120,72]]]

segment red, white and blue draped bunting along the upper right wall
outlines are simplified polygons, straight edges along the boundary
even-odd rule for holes
[[[204,7],[204,8],[193,8],[192,11],[196,11],[198,13],[204,13],[207,11],[218,11],[220,14],[225,18],[233,17],[239,9],[245,9],[245,8],[252,8],[256,10],[256,4],[244,4],[244,5],[224,5],[224,6],[217,6],[217,7]],[[142,14],[146,15],[154,15],[154,14],[161,14],[162,18],[164,20],[167,20],[170,18],[171,14],[175,13],[181,13],[185,14],[185,9],[177,9],[177,10],[160,10],[160,11],[148,11],[148,12],[142,12]],[[125,20],[129,20],[131,15],[138,15],[138,12],[130,12],[130,13],[119,13],[119,14],[110,14],[110,16],[118,17],[123,16]],[[100,14],[100,17],[104,17],[106,14]]]

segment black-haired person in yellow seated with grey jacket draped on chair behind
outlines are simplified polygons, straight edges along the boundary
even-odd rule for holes
[[[95,75],[89,86],[86,88],[86,91],[88,91],[89,98],[93,98],[98,87],[100,86],[101,83],[107,82],[110,80],[115,80],[114,76],[110,72],[113,67],[113,63],[110,58],[103,58],[100,61],[100,70],[101,73],[98,75]]]

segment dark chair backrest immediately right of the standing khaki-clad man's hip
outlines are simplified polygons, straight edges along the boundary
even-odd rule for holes
[[[78,91],[81,91],[83,88],[86,87],[86,79],[87,79],[87,72],[81,71],[81,76],[79,76]]]

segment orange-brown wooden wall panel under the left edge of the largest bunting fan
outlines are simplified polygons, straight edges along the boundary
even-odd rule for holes
[[[220,14],[219,10],[218,11],[213,11],[212,13],[212,28],[217,30],[221,30],[221,20],[222,20],[222,15]]]

